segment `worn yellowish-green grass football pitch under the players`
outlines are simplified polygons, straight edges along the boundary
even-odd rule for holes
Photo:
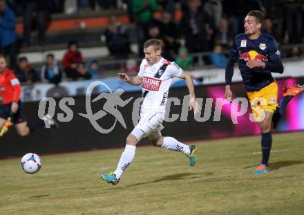
[[[304,132],[273,139],[272,170],[260,176],[259,136],[188,142],[194,167],[180,152],[137,147],[116,186],[100,174],[123,149],[42,156],[33,175],[0,160],[0,214],[304,214]]]

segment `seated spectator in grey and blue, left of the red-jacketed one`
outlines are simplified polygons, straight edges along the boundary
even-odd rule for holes
[[[41,68],[41,81],[59,84],[61,75],[61,68],[55,61],[55,56],[53,54],[46,55],[46,63]]]

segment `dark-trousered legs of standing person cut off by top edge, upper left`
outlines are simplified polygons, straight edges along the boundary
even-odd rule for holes
[[[30,30],[35,15],[38,28],[38,44],[44,45],[46,41],[46,12],[48,4],[41,0],[27,0],[23,2],[23,46],[30,46]]]

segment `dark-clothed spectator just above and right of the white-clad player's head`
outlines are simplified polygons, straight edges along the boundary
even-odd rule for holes
[[[178,53],[178,48],[180,48],[180,36],[178,34],[178,26],[172,20],[170,12],[163,12],[161,24],[160,32],[164,35],[165,43],[169,49],[174,51],[174,53]]]

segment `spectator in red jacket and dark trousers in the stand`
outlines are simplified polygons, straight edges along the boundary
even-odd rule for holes
[[[77,80],[77,63],[83,62],[84,59],[82,57],[82,53],[78,50],[78,43],[75,40],[72,40],[68,43],[68,51],[64,55],[64,59],[62,60],[62,65],[64,66],[64,72],[66,73],[66,77],[72,78],[73,80]]]

